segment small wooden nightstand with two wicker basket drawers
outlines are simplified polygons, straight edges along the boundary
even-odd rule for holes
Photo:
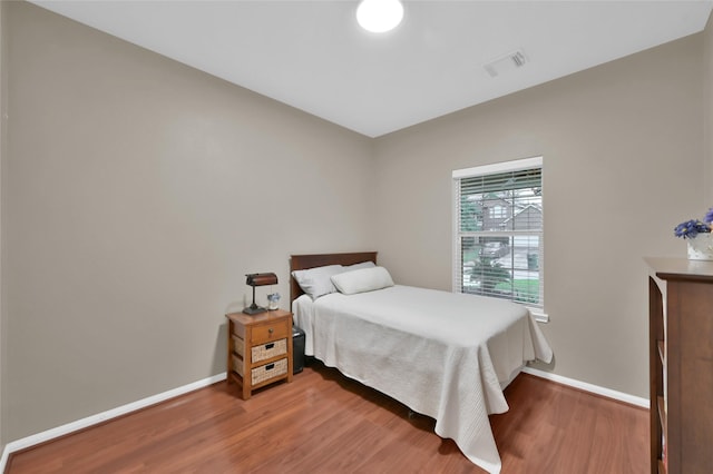
[[[292,313],[231,313],[227,330],[227,383],[243,387],[242,398],[274,382],[292,382]]]

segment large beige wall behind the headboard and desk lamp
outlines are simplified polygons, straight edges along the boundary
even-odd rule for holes
[[[8,440],[224,372],[244,274],[276,271],[289,304],[291,253],[372,248],[368,138],[7,13]]]

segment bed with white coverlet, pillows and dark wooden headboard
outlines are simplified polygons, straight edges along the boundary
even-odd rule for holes
[[[500,472],[488,415],[508,411],[502,389],[528,361],[553,357],[527,308],[394,285],[374,251],[293,255],[291,275],[306,355],[434,418],[439,436]]]

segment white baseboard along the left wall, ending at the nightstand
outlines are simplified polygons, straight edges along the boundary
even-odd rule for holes
[[[6,444],[4,450],[2,450],[2,457],[0,458],[0,473],[4,472],[10,454],[14,453],[16,451],[26,450],[28,447],[35,446],[36,444],[45,443],[56,437],[76,432],[78,429],[106,422],[107,419],[116,418],[117,416],[126,415],[127,413],[136,412],[140,408],[146,408],[147,406],[177,397],[188,392],[207,387],[208,385],[215,384],[216,382],[224,381],[226,373],[224,372],[222,374],[217,374],[212,377],[207,377],[202,381],[197,381],[192,384],[170,389],[168,392],[152,395],[149,397],[119,406],[117,408],[108,409],[96,415],[87,416],[86,418],[77,419],[76,422],[67,423],[66,425],[57,426],[56,428],[47,429],[46,432],[37,433],[20,440],[12,441]]]

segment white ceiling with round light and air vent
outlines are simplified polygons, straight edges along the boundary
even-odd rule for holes
[[[388,33],[356,1],[32,1],[369,137],[702,31],[713,0],[406,1]],[[491,77],[484,63],[528,62]]]

